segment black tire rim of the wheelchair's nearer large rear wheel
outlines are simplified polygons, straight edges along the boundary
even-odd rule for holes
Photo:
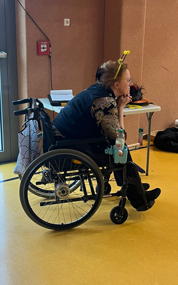
[[[84,214],[81,218],[75,220],[74,222],[70,223],[62,223],[62,224],[54,224],[49,223],[48,221],[45,221],[38,217],[36,213],[31,208],[31,205],[29,205],[28,201],[28,191],[31,192],[31,190],[28,189],[29,187],[29,181],[31,180],[31,177],[35,174],[38,167],[41,167],[41,165],[44,165],[50,160],[58,159],[59,157],[67,156],[67,157],[75,157],[75,159],[82,161],[82,163],[85,163],[90,169],[92,169],[92,172],[94,173],[97,183],[99,185],[100,191],[96,194],[96,198],[94,200],[94,203],[91,207],[91,209]],[[96,162],[93,161],[89,156],[75,150],[71,149],[59,149],[59,150],[53,150],[48,153],[45,153],[35,159],[26,169],[25,173],[22,176],[21,182],[20,182],[20,202],[22,205],[23,210],[27,214],[29,218],[31,218],[35,223],[38,225],[41,225],[43,227],[46,227],[50,230],[68,230],[72,229],[75,226],[78,226],[85,221],[87,221],[89,218],[91,218],[94,213],[99,208],[102,198],[104,194],[104,181],[103,181],[103,175],[101,173],[100,168],[96,164]],[[66,199],[67,200],[67,199]],[[64,204],[64,203],[63,203]]]

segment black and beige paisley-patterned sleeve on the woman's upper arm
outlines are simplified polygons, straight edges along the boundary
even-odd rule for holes
[[[91,113],[101,133],[115,140],[118,130],[121,129],[116,101],[111,97],[95,98],[91,105]]]

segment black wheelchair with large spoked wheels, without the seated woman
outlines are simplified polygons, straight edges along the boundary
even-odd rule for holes
[[[29,103],[28,108],[14,111],[15,116],[27,114],[30,108],[33,119],[39,122],[39,127],[40,122],[43,126],[39,134],[43,138],[43,154],[29,164],[20,177],[20,202],[29,218],[50,230],[72,229],[90,219],[104,197],[116,196],[121,197],[120,202],[111,210],[110,219],[122,224],[128,217],[125,205],[129,183],[137,185],[147,209],[150,208],[137,167],[127,161],[126,147],[122,162],[107,137],[65,139],[54,136],[50,117],[42,102],[36,100],[35,108],[32,108],[32,98],[13,102],[13,105]],[[128,164],[134,169],[135,177],[128,178]],[[109,178],[117,170],[123,171],[124,183],[121,190],[110,193]]]

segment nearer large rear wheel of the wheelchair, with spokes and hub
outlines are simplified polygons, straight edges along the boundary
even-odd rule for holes
[[[80,181],[80,187],[70,185]],[[44,198],[29,186],[51,192]],[[38,186],[37,186],[38,185]],[[98,185],[98,191],[94,190]],[[100,168],[87,155],[70,149],[53,150],[34,160],[20,183],[20,202],[29,218],[51,230],[67,230],[88,220],[101,204],[104,181]]]

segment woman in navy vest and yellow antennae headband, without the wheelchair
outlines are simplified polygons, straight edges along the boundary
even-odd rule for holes
[[[90,139],[99,136],[108,137],[110,144],[115,145],[117,131],[124,129],[123,108],[131,102],[130,86],[132,79],[127,64],[123,60],[117,62],[108,61],[98,68],[96,83],[77,94],[58,113],[52,122],[53,132],[61,138],[67,139]],[[80,146],[78,147],[81,150]],[[128,151],[127,161],[132,161]],[[132,165],[127,165],[128,177],[136,177]],[[118,186],[123,185],[123,172],[114,172]],[[149,189],[149,184],[142,184],[144,191]],[[145,192],[145,198],[149,207],[146,207],[143,196],[139,193],[138,187],[129,184],[127,197],[132,207],[137,211],[150,209],[156,198],[160,195],[159,188]]]

